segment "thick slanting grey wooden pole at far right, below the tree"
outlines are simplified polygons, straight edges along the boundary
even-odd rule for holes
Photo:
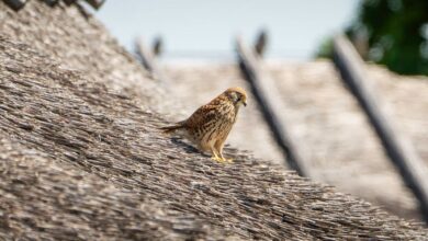
[[[334,62],[368,115],[391,161],[418,198],[423,217],[428,222],[428,169],[410,141],[397,131],[393,119],[375,99],[375,93],[369,85],[370,80],[364,74],[364,62],[345,36],[334,39]]]

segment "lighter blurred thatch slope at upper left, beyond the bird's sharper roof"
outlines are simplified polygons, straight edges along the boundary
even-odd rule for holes
[[[82,14],[75,4],[59,1],[54,8],[40,0],[29,1],[14,12],[0,1],[0,33],[29,43],[70,69],[82,72],[88,81],[105,83],[111,90],[138,96],[136,101],[168,112],[172,101],[166,91],[117,44],[92,15]]]

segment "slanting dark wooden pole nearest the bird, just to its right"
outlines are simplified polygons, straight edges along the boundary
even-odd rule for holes
[[[307,176],[307,169],[299,154],[295,144],[285,129],[285,122],[279,116],[279,113],[285,110],[281,102],[275,99],[280,93],[278,93],[274,87],[269,85],[269,81],[263,81],[259,56],[256,54],[256,50],[245,46],[240,38],[237,39],[236,50],[240,70],[251,85],[252,93],[277,144],[284,154],[288,165],[301,176]]]

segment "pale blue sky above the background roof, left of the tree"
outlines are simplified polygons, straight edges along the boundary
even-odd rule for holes
[[[165,58],[232,58],[267,27],[268,57],[305,60],[356,18],[358,0],[106,0],[95,15],[127,49],[161,35]],[[148,44],[147,43],[147,44]]]

